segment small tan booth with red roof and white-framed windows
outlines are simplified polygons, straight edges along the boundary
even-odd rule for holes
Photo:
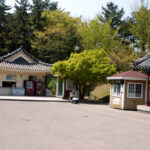
[[[147,98],[147,75],[126,71],[107,77],[110,81],[110,107],[136,110]]]

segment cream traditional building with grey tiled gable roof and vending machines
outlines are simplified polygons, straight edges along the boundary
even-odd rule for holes
[[[0,57],[0,95],[44,95],[44,77],[51,66],[23,47]]]

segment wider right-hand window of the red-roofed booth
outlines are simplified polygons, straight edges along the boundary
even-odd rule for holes
[[[141,83],[129,83],[127,97],[142,98],[142,87]]]

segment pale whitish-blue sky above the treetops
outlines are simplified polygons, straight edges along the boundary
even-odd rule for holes
[[[130,15],[133,5],[140,0],[55,0],[58,6],[71,12],[74,17],[82,16],[84,19],[92,19],[101,12],[101,7],[106,6],[110,1],[114,2],[119,8],[124,8],[125,16]],[[6,0],[8,5],[13,6],[15,0]]]

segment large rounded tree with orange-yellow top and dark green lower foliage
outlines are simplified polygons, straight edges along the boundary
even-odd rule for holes
[[[35,31],[32,42],[35,55],[48,63],[69,58],[79,45],[80,18],[72,18],[60,10],[45,11],[42,17],[46,17],[44,31]]]

